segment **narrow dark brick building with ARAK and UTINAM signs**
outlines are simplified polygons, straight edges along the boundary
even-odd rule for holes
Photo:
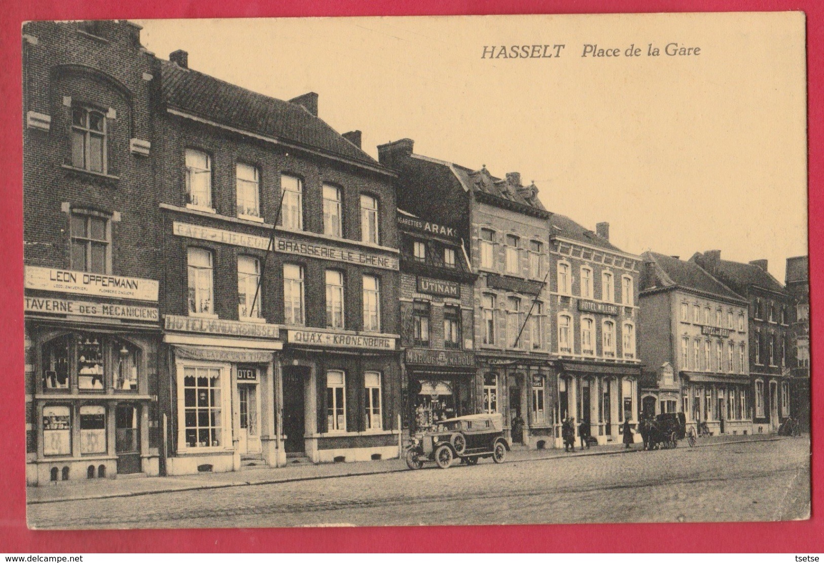
[[[398,210],[405,427],[475,413],[474,292],[455,228]]]

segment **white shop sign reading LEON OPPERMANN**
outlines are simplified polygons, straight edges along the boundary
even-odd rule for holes
[[[91,274],[76,270],[58,270],[26,266],[26,289],[44,289],[64,293],[102,295],[110,298],[157,301],[155,279],[127,278],[123,275]]]

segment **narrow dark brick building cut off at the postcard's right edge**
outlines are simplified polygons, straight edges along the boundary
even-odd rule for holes
[[[787,259],[786,288],[792,298],[790,312],[789,411],[810,428],[810,276],[809,257]]]

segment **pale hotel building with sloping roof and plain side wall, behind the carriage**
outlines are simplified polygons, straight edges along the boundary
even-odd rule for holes
[[[683,412],[688,425],[704,423],[714,434],[750,434],[759,399],[750,379],[747,300],[694,261],[656,252],[642,258],[642,411]]]

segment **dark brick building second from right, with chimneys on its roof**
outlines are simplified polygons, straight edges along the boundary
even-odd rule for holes
[[[696,252],[690,260],[749,301],[752,422],[756,432],[777,431],[790,411],[793,299],[770,275],[767,260],[722,260],[721,251]]]

